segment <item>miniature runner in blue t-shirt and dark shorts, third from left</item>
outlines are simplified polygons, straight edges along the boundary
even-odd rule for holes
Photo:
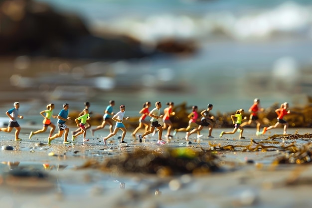
[[[69,128],[66,126],[65,122],[67,120],[71,120],[71,117],[68,116],[68,108],[69,108],[69,105],[68,103],[64,103],[63,105],[63,109],[59,112],[57,118],[57,125],[58,125],[58,133],[57,134],[54,134],[52,137],[48,137],[48,145],[51,144],[51,141],[58,138],[58,137],[61,137],[63,136],[64,132],[64,144],[69,144],[70,142],[67,141],[67,136],[68,136],[68,132],[69,132]]]

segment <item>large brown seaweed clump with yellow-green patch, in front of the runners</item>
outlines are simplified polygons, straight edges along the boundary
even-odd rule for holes
[[[220,171],[211,151],[188,148],[163,149],[161,152],[137,150],[100,163],[89,160],[78,169],[95,168],[111,173],[146,173],[159,177],[181,174],[207,174]]]

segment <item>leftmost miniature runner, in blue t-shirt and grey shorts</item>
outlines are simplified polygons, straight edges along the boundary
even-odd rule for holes
[[[15,141],[21,141],[20,138],[18,138],[19,132],[20,132],[20,126],[17,123],[17,118],[23,119],[23,116],[20,116],[18,114],[19,109],[19,102],[15,102],[13,104],[14,108],[8,110],[5,112],[5,114],[10,118],[7,128],[1,128],[0,131],[2,132],[11,132],[13,128],[16,129],[15,131]]]

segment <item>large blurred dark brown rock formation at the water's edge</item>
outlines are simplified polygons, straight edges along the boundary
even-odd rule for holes
[[[0,55],[86,59],[130,59],[155,54],[189,53],[194,45],[165,40],[147,50],[131,37],[90,33],[78,15],[33,0],[0,0]]]

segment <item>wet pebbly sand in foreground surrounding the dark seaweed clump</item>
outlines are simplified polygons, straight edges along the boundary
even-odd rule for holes
[[[188,148],[194,151],[210,149],[210,143],[225,145],[248,145],[251,139],[261,141],[272,134],[282,133],[275,129],[267,135],[255,136],[254,128],[245,128],[246,139],[238,139],[239,134],[218,137],[221,131],[214,129],[215,138],[206,138],[207,130],[200,141],[192,135],[188,144],[185,134],[165,145],[156,145],[156,135],[143,143],[138,143],[128,131],[126,144],[119,144],[117,134],[107,146],[102,136],[108,131],[99,130],[95,137],[87,136],[89,142],[82,143],[82,137],[73,144],[63,145],[62,139],[45,145],[48,133],[34,135],[29,132],[37,127],[24,128],[20,134],[22,141],[13,141],[14,133],[0,132],[1,146],[12,146],[14,150],[0,151],[0,204],[6,208],[293,208],[311,207],[310,183],[312,168],[309,165],[278,165],[272,161],[280,151],[243,152],[239,149],[217,153],[222,172],[204,175],[179,175],[160,178],[147,174],[107,173],[93,168],[79,169],[87,161],[103,161],[119,157],[125,152],[137,149],[162,152],[166,148]],[[74,127],[71,127],[74,129]],[[298,129],[290,129],[294,134]],[[310,129],[299,129],[299,134]],[[121,132],[119,132],[121,133]],[[69,135],[71,140],[71,134]],[[277,140],[281,144],[294,142]],[[296,145],[308,143],[298,139]],[[44,168],[48,166],[48,168]],[[78,169],[77,169],[78,168]]]

